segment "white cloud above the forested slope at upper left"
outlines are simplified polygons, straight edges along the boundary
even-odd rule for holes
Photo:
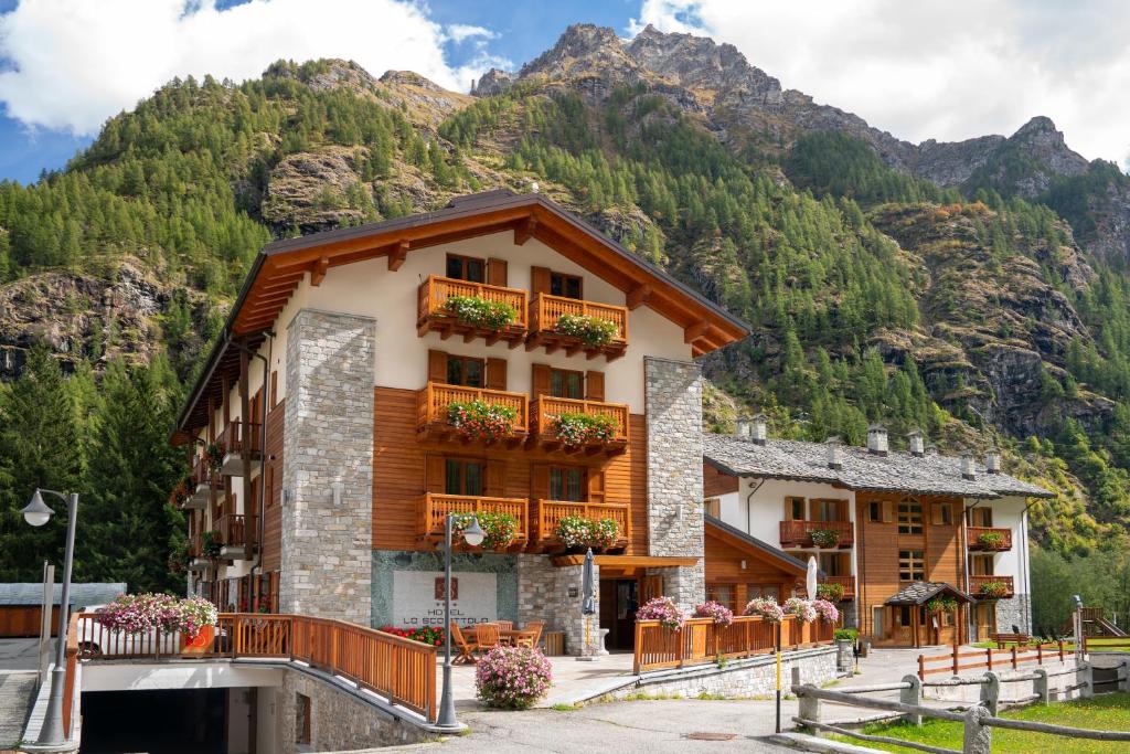
[[[0,16],[0,103],[31,127],[95,133],[106,118],[173,77],[240,81],[280,58],[345,58],[374,76],[414,70],[467,90],[492,64],[480,46],[453,67],[449,40],[484,38],[480,27],[444,29],[409,0],[24,0]]]

